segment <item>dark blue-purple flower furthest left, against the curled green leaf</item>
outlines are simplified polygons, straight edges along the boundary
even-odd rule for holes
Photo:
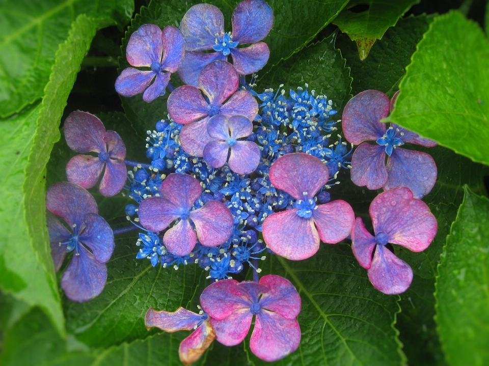
[[[61,287],[72,301],[91,300],[102,292],[107,280],[105,263],[111,258],[115,246],[112,229],[98,215],[92,195],[74,183],[60,182],[50,186],[46,207],[65,220],[71,229],[70,232],[48,212],[49,243],[57,271],[66,253],[73,251],[71,263],[61,278]]]

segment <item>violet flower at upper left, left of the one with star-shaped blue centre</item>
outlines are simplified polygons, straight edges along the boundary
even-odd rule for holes
[[[127,62],[143,71],[128,67],[116,80],[116,91],[124,97],[143,93],[145,102],[165,94],[170,76],[177,71],[184,53],[184,40],[178,28],[168,25],[163,31],[154,24],[144,24],[129,38]],[[156,77],[156,78],[155,78]],[[151,84],[151,81],[155,81]],[[149,86],[149,87],[148,87]]]

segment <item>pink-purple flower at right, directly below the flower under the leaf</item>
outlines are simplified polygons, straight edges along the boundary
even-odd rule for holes
[[[386,245],[392,243],[423,251],[437,234],[437,220],[428,206],[405,187],[392,188],[376,196],[369,213],[375,236],[365,229],[362,218],[357,217],[351,232],[351,249],[360,265],[368,270],[368,278],[378,291],[400,294],[411,285],[413,270]]]

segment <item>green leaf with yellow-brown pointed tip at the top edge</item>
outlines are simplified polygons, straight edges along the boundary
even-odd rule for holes
[[[333,21],[358,46],[360,60],[365,60],[376,40],[420,0],[352,0]],[[363,10],[363,7],[367,9]],[[360,8],[360,9],[359,9]],[[358,9],[358,10],[357,10]]]

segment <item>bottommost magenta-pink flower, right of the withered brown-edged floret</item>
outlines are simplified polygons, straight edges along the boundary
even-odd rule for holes
[[[200,296],[210,316],[215,339],[226,346],[241,343],[256,315],[251,351],[265,361],[276,361],[295,351],[301,342],[297,315],[301,297],[287,279],[269,274],[258,283],[224,279]]]

